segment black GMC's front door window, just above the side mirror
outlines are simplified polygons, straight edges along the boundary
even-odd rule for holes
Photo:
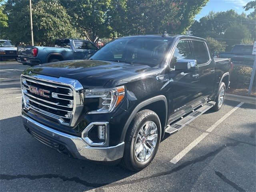
[[[181,40],[178,42],[170,62],[170,68],[175,68],[178,59],[193,59],[188,40]]]

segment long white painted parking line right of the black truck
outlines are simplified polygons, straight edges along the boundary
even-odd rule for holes
[[[210,132],[212,132],[222,121],[224,121],[228,116],[235,112],[242,104],[244,103],[241,102],[230,112],[228,112],[222,118],[220,118],[216,123],[214,123],[210,128],[208,128],[205,133],[196,138],[196,140],[190,143],[186,148],[184,148],[184,150],[182,150],[178,155],[176,155],[172,160],[170,160],[170,162],[173,164],[178,163],[178,161],[181,160],[181,158],[183,158],[192,148],[194,148],[200,141],[202,141],[203,138],[205,138]]]

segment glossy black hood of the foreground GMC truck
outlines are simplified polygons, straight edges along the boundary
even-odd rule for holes
[[[65,77],[78,80],[84,88],[108,87],[157,73],[159,69],[141,64],[99,60],[71,60],[47,63],[28,68],[33,72],[53,77]],[[26,73],[25,72],[25,73]]]

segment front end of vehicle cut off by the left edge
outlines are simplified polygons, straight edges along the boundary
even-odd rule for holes
[[[16,59],[17,48],[9,40],[0,40],[0,60]]]

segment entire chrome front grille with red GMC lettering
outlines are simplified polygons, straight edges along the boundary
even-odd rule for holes
[[[74,126],[84,104],[83,88],[69,78],[34,74],[21,76],[22,96],[27,110]]]

